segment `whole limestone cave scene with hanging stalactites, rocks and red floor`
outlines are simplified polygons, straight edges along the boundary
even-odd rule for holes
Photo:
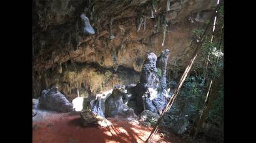
[[[223,142],[223,7],[33,0],[32,142]]]

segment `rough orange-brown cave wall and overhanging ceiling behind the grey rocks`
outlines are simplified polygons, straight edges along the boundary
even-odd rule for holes
[[[185,68],[193,52],[191,31],[205,26],[215,1],[172,0],[170,11],[165,10],[166,2],[155,1],[157,11],[150,19],[149,0],[34,0],[33,96],[52,85],[69,95],[76,88],[97,93],[116,84],[137,83],[145,55],[154,52],[158,57],[164,49],[170,50],[167,77],[179,73],[177,69]],[[81,32],[81,12],[89,17],[96,34]],[[163,16],[167,22],[164,46]],[[141,26],[137,32],[140,17],[146,17],[145,30]],[[202,59],[193,68],[202,68]]]

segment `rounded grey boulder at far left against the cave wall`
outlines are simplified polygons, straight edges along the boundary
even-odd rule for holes
[[[49,109],[57,112],[69,112],[73,109],[72,103],[58,91],[56,86],[52,87],[50,90],[42,91],[39,105],[42,109]]]

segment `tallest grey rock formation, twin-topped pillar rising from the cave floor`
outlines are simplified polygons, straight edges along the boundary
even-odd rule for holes
[[[160,114],[167,103],[166,66],[170,50],[164,50],[160,57],[149,53],[142,66],[140,81],[134,87],[139,111],[145,109]],[[141,106],[143,105],[143,106]]]

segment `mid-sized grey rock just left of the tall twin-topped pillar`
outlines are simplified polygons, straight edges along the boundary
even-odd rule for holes
[[[134,109],[126,106],[122,100],[126,96],[127,90],[124,85],[116,85],[111,96],[105,101],[105,114],[107,117],[116,115],[124,116],[125,118],[137,118],[134,114]]]

